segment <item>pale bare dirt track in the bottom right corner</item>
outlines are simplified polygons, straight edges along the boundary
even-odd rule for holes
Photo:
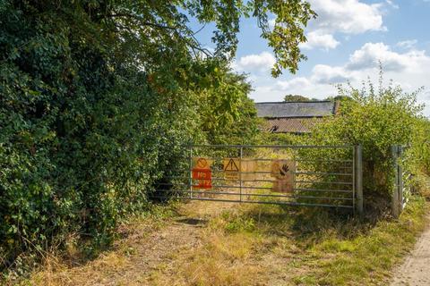
[[[417,241],[415,249],[396,270],[391,286],[430,285],[430,228]]]

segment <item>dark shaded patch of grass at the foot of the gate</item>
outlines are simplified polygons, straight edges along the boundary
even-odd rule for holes
[[[353,240],[366,235],[382,218],[359,219],[350,212],[327,208],[255,205],[244,207],[238,216],[226,217],[234,222],[240,216],[243,222],[253,221],[253,231],[262,235],[288,237],[304,247],[322,242],[328,236],[339,240]]]

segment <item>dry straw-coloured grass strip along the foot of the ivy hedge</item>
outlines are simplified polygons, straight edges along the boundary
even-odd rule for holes
[[[175,204],[154,206],[150,213],[131,217],[117,229],[118,237],[122,239],[94,259],[85,256],[80,242],[71,238],[61,255],[54,251],[43,253],[39,271],[31,273],[30,279],[17,282],[12,278],[4,283],[43,286],[110,284],[118,274],[133,266],[133,257],[142,250],[139,249],[141,242],[165,227],[176,215],[176,207]]]

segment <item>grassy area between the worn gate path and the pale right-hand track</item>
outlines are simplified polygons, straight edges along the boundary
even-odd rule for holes
[[[413,248],[426,223],[414,198],[399,220],[360,222],[319,210],[240,206],[213,219],[202,246],[152,273],[163,285],[372,285]]]

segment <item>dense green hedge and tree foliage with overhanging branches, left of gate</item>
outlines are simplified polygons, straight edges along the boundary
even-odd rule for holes
[[[181,146],[252,139],[249,84],[228,70],[239,19],[258,21],[276,76],[297,71],[314,15],[298,0],[1,1],[1,260],[70,233],[109,242]],[[190,17],[215,23],[214,55]]]

